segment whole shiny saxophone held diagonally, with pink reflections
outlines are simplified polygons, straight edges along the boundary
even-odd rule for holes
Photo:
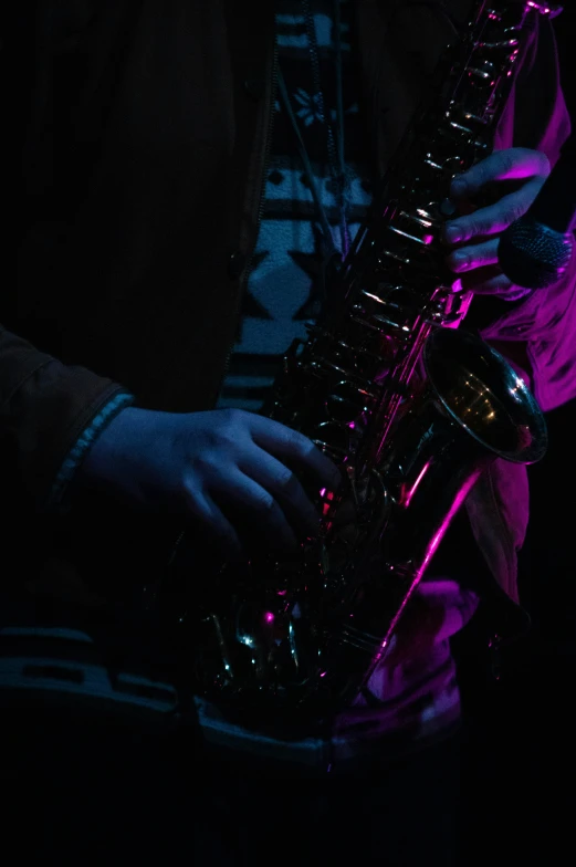
[[[450,180],[491,152],[538,12],[551,9],[476,4],[334,272],[326,313],[284,357],[265,415],[342,471],[337,492],[315,494],[318,539],[294,556],[218,564],[200,599],[186,554],[174,560],[164,600],[195,690],[221,706],[297,714],[353,701],[483,469],[546,449],[526,385],[457,327],[469,299],[450,291],[439,242]],[[349,501],[355,520],[341,525]]]

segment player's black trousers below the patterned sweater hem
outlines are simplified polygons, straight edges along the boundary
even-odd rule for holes
[[[22,863],[465,863],[457,738],[326,779],[207,760],[189,738],[61,715],[4,713],[0,742],[2,847]]]

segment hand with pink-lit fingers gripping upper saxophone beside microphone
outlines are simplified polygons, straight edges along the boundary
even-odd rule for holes
[[[515,301],[530,290],[513,285],[498,264],[499,236],[528,210],[551,166],[545,154],[525,147],[499,150],[452,180],[450,198],[460,215],[443,228],[451,247],[448,265],[458,279],[454,292],[500,295]],[[509,191],[513,185],[513,191]],[[495,189],[499,199],[474,208],[473,199]]]

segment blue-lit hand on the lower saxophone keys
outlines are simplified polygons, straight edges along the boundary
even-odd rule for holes
[[[247,543],[295,551],[320,531],[315,491],[341,481],[307,437],[262,416],[133,407],[101,433],[80,478],[136,510],[179,515],[222,555]]]

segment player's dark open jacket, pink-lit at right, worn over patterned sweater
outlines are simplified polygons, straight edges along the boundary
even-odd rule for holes
[[[450,35],[427,4],[399,6],[392,20],[394,3],[357,3],[380,171]],[[468,6],[448,3],[459,21]],[[258,231],[273,3],[39,0],[0,15],[23,203],[18,280],[0,300],[3,532],[6,549],[18,545],[18,581],[52,549],[66,558],[75,547],[84,568],[86,553],[136,527],[125,516],[118,534],[96,497],[67,516],[46,510],[64,459],[111,397],[126,389],[137,406],[172,411],[214,404]],[[554,163],[567,135],[553,32],[541,21],[496,146],[540,148]],[[576,394],[574,285],[573,269],[554,290],[503,305],[485,330],[544,409]],[[496,461],[468,506],[494,576],[516,598],[524,468]]]

